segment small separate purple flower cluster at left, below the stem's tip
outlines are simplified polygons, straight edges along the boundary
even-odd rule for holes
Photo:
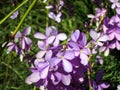
[[[23,31],[23,34],[20,31],[18,31],[14,37],[14,41],[9,42],[7,44],[7,53],[11,51],[16,52],[18,55],[20,55],[20,60],[22,61],[24,51],[29,51],[32,45],[32,40],[29,37],[27,37],[30,34],[30,32],[30,27],[26,27]],[[20,42],[19,45],[18,42]]]

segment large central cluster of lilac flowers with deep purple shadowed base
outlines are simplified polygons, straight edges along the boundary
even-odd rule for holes
[[[66,34],[58,34],[57,29],[52,26],[46,28],[46,35],[38,32],[34,37],[39,39],[40,51],[36,54],[31,67],[32,74],[26,79],[26,83],[36,83],[37,87],[44,85],[49,90],[63,90],[74,89],[74,80],[78,84],[84,82],[90,55],[84,33],[75,30],[66,40]],[[60,41],[66,44],[62,45]],[[82,87],[76,89],[80,88]]]

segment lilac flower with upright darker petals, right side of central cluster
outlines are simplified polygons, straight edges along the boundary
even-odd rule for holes
[[[88,55],[90,55],[90,50],[86,45],[86,36],[84,33],[80,33],[79,30],[76,30],[71,35],[71,41],[68,43],[71,49],[74,51],[75,56],[79,56],[81,59],[81,64],[88,64]]]

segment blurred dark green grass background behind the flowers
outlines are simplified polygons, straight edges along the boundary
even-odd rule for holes
[[[11,3],[11,1],[14,1],[15,4]],[[23,1],[0,0],[0,20]],[[8,18],[0,25],[0,90],[34,90],[34,85],[27,85],[25,83],[25,78],[31,73],[29,71],[30,65],[28,61],[24,60],[21,62],[19,56],[14,52],[6,54],[6,49],[1,47],[5,41],[10,39],[11,32],[15,30],[15,27],[20,22],[32,1],[33,0],[29,0],[18,9],[20,13],[18,18],[14,20]],[[49,4],[55,4],[56,1],[57,0],[49,0]],[[102,5],[99,1],[102,2]],[[85,22],[89,22],[87,15],[94,14],[96,7],[106,7],[108,9],[108,16],[114,15],[114,11],[110,9],[109,0],[64,0],[64,2],[65,4],[62,8],[63,19],[59,24],[47,17],[49,12],[45,9],[47,4],[43,3],[41,0],[37,0],[35,6],[25,18],[19,30],[22,32],[26,26],[32,28],[30,38],[34,42],[30,55],[34,56],[39,50],[36,48],[37,40],[34,39],[33,34],[37,31],[44,33],[47,23],[49,26],[56,26],[59,32],[65,32],[69,35],[75,29],[79,29],[83,32],[88,31],[85,29]],[[104,70],[103,80],[111,85],[108,90],[116,90],[117,85],[120,84],[120,51],[112,50],[108,57],[103,56],[103,58],[104,64],[94,67],[93,76],[96,71],[100,69]]]

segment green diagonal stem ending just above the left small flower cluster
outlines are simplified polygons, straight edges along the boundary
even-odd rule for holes
[[[15,34],[17,33],[17,31],[19,30],[21,24],[23,23],[23,21],[25,20],[25,18],[27,17],[27,15],[29,14],[30,10],[32,9],[32,7],[35,5],[37,0],[33,0],[32,4],[29,6],[28,10],[26,11],[26,13],[24,14],[24,16],[22,17],[21,21],[19,22],[19,24],[17,25],[16,29],[14,30],[14,32],[12,33],[12,38],[15,36]]]

